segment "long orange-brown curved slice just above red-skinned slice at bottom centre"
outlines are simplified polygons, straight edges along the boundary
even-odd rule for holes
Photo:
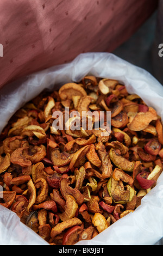
[[[82,225],[82,221],[79,220],[79,218],[74,217],[70,220],[63,221],[61,223],[58,223],[54,228],[51,230],[51,237],[52,239],[62,233],[65,229],[71,228],[75,225]]]

